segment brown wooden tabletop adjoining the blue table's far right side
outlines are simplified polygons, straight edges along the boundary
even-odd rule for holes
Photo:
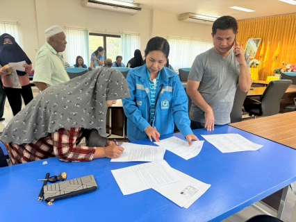
[[[230,126],[296,149],[296,112],[231,123]]]

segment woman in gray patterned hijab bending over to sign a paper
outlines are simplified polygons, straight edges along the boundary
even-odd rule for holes
[[[118,71],[96,69],[42,91],[11,119],[0,139],[13,164],[55,156],[65,162],[116,158],[124,148],[107,142],[106,108],[129,96]],[[86,146],[79,145],[83,137]]]

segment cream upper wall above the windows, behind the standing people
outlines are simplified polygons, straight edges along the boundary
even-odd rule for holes
[[[38,49],[45,43],[44,30],[59,26],[88,28],[94,33],[140,33],[141,51],[151,37],[184,37],[211,40],[211,26],[179,22],[178,15],[142,9],[126,15],[81,6],[82,0],[1,0],[0,21],[19,22],[22,46],[35,64]],[[12,6],[17,6],[13,7]],[[8,8],[8,10],[3,10]],[[0,33],[1,34],[1,33]]]

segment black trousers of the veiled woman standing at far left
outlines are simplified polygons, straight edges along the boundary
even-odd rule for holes
[[[33,92],[30,85],[24,85],[22,86],[22,89],[5,87],[5,91],[14,116],[22,109],[21,96],[23,97],[26,105],[33,99]]]

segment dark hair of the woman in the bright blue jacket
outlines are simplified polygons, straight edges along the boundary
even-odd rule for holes
[[[163,54],[165,54],[165,58],[168,58],[170,53],[170,44],[163,37],[153,37],[147,43],[145,57],[151,51],[162,51]]]

